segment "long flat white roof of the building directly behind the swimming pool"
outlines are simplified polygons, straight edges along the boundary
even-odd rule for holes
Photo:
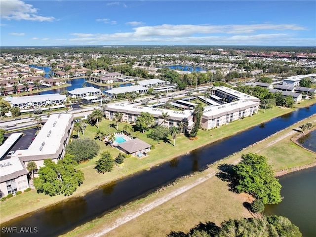
[[[127,110],[131,112],[148,112],[149,114],[153,115],[154,117],[159,117],[163,113],[168,113],[170,117],[176,117],[176,118],[188,118],[191,115],[191,111],[174,111],[174,110],[166,110],[166,109],[158,109],[158,108],[150,108],[145,106],[137,106],[137,105],[128,105],[128,104],[114,104],[107,106],[106,110],[108,109],[118,109],[118,110]]]

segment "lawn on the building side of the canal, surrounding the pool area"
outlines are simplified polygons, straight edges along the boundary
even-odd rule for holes
[[[297,105],[300,107],[308,106],[309,104],[314,104],[316,100],[313,101],[304,101],[301,104]],[[158,165],[159,163],[168,161],[172,158],[175,158],[179,155],[190,152],[198,147],[209,144],[215,140],[236,134],[242,130],[245,130],[249,127],[258,125],[264,121],[268,121],[272,118],[286,114],[293,111],[293,109],[284,109],[284,108],[274,108],[272,110],[266,110],[266,113],[263,113],[261,110],[254,117],[246,117],[242,120],[235,121],[231,124],[219,127],[211,131],[199,131],[198,139],[195,141],[190,141],[183,134],[179,135],[176,139],[176,147],[173,147],[173,139],[170,138],[170,143],[160,143],[155,142],[146,137],[146,133],[139,134],[139,138],[153,144],[156,146],[156,149],[149,153],[149,156],[143,159],[137,159],[135,157],[125,159],[122,169],[115,168],[112,172],[105,174],[98,174],[94,169],[95,161],[99,158],[91,159],[87,163],[79,164],[78,168],[81,169],[84,173],[85,180],[83,184],[78,188],[73,196],[82,196],[86,192],[96,189],[98,186],[116,180],[118,178],[130,175],[140,170],[150,169],[151,167]],[[103,131],[115,132],[116,128],[109,126],[110,124],[115,124],[114,121],[103,120],[100,123],[100,129]],[[119,123],[119,130],[122,130],[123,125],[126,123]],[[97,131],[97,127],[88,126],[84,135],[80,137],[91,137],[94,138]],[[212,134],[212,136],[210,136]],[[133,135],[136,135],[133,133]],[[116,157],[119,153],[117,149],[106,146],[103,142],[97,141],[100,145],[100,153],[103,151],[110,151],[111,154]],[[164,152],[168,151],[168,153]],[[1,223],[8,221],[14,217],[36,211],[40,208],[53,205],[56,202],[63,201],[66,198],[64,196],[55,196],[49,197],[44,194],[37,194],[34,190],[28,193],[23,193],[20,196],[10,198],[5,202],[0,203],[0,219]]]

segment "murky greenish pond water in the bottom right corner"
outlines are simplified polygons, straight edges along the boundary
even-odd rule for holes
[[[316,237],[316,167],[278,177],[283,200],[266,205],[265,215],[285,216],[303,237]]]

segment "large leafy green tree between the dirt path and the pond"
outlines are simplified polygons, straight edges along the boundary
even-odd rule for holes
[[[241,161],[234,166],[238,193],[247,193],[264,204],[277,204],[281,201],[281,185],[274,177],[268,159],[258,154],[241,155]]]

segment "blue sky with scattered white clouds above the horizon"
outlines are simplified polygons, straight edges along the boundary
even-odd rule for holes
[[[316,1],[0,0],[1,46],[316,46]]]

